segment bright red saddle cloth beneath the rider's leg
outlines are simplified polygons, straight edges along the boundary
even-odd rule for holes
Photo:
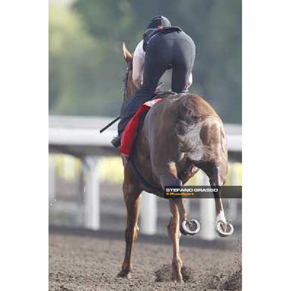
[[[149,111],[149,109],[156,103],[160,102],[162,98],[149,100],[144,103],[137,112],[130,119],[126,128],[124,129],[121,136],[121,146],[119,146],[119,152],[125,156],[129,156],[131,148],[133,146],[134,139],[136,137],[140,116],[142,113]]]

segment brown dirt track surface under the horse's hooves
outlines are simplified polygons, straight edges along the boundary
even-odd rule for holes
[[[138,239],[131,279],[127,280],[116,277],[125,246],[120,238],[50,233],[49,290],[242,290],[241,249],[237,243],[206,248],[201,244],[189,246],[192,242],[187,240],[187,245],[181,246],[186,282],[178,284],[170,280],[171,244],[149,241]]]

